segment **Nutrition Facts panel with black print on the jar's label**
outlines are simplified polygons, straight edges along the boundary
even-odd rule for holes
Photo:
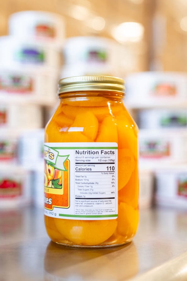
[[[74,159],[75,215],[117,217],[117,147],[77,149]]]

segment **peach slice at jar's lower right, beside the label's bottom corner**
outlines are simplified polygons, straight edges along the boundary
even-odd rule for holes
[[[118,205],[117,232],[131,238],[135,235],[138,226],[138,210],[126,203]]]

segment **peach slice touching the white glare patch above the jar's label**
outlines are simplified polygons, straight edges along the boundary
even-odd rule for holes
[[[98,120],[92,112],[79,113],[71,127],[82,128],[83,135],[94,141],[98,132]]]

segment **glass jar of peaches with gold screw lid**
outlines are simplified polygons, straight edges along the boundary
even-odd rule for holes
[[[132,241],[138,226],[138,128],[123,105],[124,80],[59,81],[45,131],[45,224],[52,241],[104,247]]]

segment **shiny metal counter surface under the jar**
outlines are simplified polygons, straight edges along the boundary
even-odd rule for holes
[[[187,212],[145,210],[134,241],[107,249],[50,242],[43,210],[0,212],[0,281],[187,280]]]

